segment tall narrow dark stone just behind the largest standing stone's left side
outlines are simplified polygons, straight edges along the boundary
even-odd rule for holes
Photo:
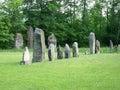
[[[27,46],[33,48],[33,28],[31,26],[28,27],[27,36]]]

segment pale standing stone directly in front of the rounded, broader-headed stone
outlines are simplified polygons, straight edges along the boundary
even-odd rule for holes
[[[54,44],[50,44],[48,48],[48,58],[49,61],[53,61],[55,56],[55,46]]]

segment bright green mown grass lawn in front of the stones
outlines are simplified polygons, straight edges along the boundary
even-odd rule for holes
[[[0,51],[0,90],[120,90],[119,53],[31,65],[19,65],[21,59],[22,51]]]

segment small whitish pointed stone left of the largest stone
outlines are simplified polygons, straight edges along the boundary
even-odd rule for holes
[[[24,53],[23,53],[23,58],[22,61],[20,62],[21,65],[23,64],[30,64],[30,54],[29,54],[29,50],[27,47],[25,47]]]

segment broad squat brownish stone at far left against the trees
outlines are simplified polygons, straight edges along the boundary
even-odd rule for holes
[[[21,33],[16,33],[15,36],[15,48],[20,49],[23,47],[23,36]]]

